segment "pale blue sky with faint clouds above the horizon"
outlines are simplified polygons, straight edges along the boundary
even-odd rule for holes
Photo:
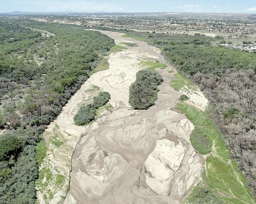
[[[256,0],[0,0],[0,12],[231,12],[256,13]]]

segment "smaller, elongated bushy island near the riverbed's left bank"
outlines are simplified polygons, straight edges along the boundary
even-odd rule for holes
[[[94,96],[92,103],[81,106],[76,113],[75,125],[86,125],[92,122],[95,119],[97,109],[104,106],[109,99],[110,94],[108,92],[101,92],[98,96]]]

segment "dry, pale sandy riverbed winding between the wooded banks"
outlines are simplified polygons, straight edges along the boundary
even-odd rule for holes
[[[181,93],[170,87],[173,67],[160,50],[146,42],[101,33],[138,47],[109,56],[109,69],[93,74],[79,90],[96,85],[108,91],[114,109],[88,128],[72,125],[74,108],[80,100],[75,94],[57,118],[58,125],[84,134],[72,156],[70,190],[64,204],[178,204],[199,180],[204,159],[189,141],[193,124],[173,111]],[[135,81],[141,60],[158,60],[168,66],[158,70],[164,82],[158,87],[156,104],[148,110],[133,110],[128,104],[129,86]],[[59,121],[58,121],[59,120]],[[70,124],[70,125],[68,125]],[[70,130],[68,130],[70,128]],[[73,133],[74,134],[74,133]],[[51,202],[54,203],[54,202]]]

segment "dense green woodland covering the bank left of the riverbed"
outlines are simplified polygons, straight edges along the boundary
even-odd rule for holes
[[[0,203],[34,204],[35,145],[114,41],[82,27],[21,19],[0,19],[0,33],[0,99],[11,101],[2,101],[0,125],[12,129],[0,137]],[[94,118],[95,109],[89,112]]]

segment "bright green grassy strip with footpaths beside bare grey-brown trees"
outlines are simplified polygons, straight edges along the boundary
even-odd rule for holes
[[[213,191],[226,196],[224,203],[255,203],[248,184],[238,166],[229,158],[230,152],[220,138],[220,132],[210,117],[209,111],[199,111],[183,102],[176,106],[194,124],[190,135],[192,146],[206,158],[204,180]]]

